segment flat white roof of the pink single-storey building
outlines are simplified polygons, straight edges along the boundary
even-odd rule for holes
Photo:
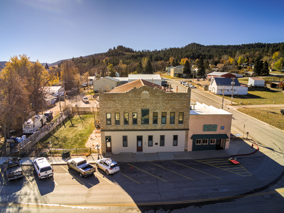
[[[232,115],[232,113],[227,112],[224,109],[218,109],[214,106],[208,106],[198,102],[195,104],[190,104],[190,106],[192,106],[192,109],[189,111],[190,115]]]

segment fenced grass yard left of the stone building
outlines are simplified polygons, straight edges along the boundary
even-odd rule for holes
[[[52,149],[86,148],[85,143],[94,129],[93,115],[76,115],[65,124],[65,127],[62,126],[50,138],[41,141],[40,145],[46,147],[51,141]]]

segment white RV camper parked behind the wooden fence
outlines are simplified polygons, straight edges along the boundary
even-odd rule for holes
[[[32,134],[46,123],[45,115],[35,115],[23,123],[23,134]]]

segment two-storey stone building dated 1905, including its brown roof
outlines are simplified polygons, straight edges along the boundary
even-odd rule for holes
[[[138,79],[99,89],[102,153],[187,151],[190,93]]]

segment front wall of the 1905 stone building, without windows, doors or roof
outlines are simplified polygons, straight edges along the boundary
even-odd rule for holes
[[[152,147],[143,147],[143,152],[187,151],[191,89],[186,93],[161,91],[157,87],[143,85],[124,93],[105,93],[99,89],[100,125],[102,153],[106,153],[106,135],[111,136],[112,153],[136,152],[136,135],[143,136],[143,146],[152,136]],[[149,109],[149,124],[141,124],[141,109]],[[158,113],[158,122],[153,124],[153,112]],[[162,112],[166,112],[166,123],[162,124]],[[175,112],[174,124],[170,124],[170,113]],[[179,123],[179,113],[183,113],[183,123]],[[111,113],[111,124],[107,125],[107,113]],[[119,113],[119,124],[115,113]],[[124,124],[124,113],[128,113],[128,124]],[[137,113],[137,124],[133,124],[133,113]],[[173,121],[173,118],[172,118]],[[178,135],[178,145],[173,146],[173,135]],[[128,146],[122,147],[122,135],[128,135]],[[159,143],[160,135],[165,135],[165,146]],[[138,143],[138,142],[137,142]],[[170,146],[170,144],[172,145]],[[138,145],[137,145],[138,146]]]

